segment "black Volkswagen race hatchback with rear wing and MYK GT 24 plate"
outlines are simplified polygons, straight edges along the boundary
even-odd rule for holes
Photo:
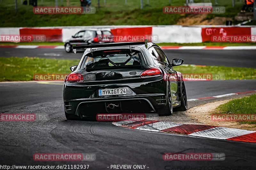
[[[98,113],[157,113],[188,108],[184,81],[154,43],[109,43],[85,48],[63,85],[67,119],[96,117]]]

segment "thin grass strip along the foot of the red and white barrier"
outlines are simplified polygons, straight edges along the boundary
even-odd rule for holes
[[[62,42],[0,42],[0,45],[45,45],[45,46],[63,46]],[[158,46],[256,46],[256,43],[157,43]]]

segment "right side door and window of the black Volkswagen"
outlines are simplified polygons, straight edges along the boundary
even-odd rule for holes
[[[165,71],[170,76],[169,79],[167,79],[167,80],[170,80],[172,100],[178,100],[179,95],[178,95],[178,82],[177,82],[176,71],[172,67],[170,67],[171,63],[167,59],[164,52],[158,47],[154,47],[154,48],[155,48],[157,54],[159,55],[161,61],[164,63]]]

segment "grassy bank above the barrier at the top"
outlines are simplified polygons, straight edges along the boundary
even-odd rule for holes
[[[164,14],[163,6],[170,6],[168,0],[153,1],[144,0],[143,10],[140,10],[140,0],[100,0],[100,8],[97,7],[97,0],[92,0],[92,6],[96,7],[95,14],[86,15],[38,15],[33,13],[33,7],[21,5],[18,0],[18,11],[14,11],[14,1],[3,0],[0,4],[0,27],[33,27],[33,26],[77,26],[77,25],[174,25],[179,18],[188,15]],[[172,0],[172,6],[183,6],[185,0]],[[195,2],[204,2],[195,0]],[[208,0],[214,5],[215,0]],[[218,6],[225,6],[225,14],[208,14],[207,19],[214,17],[234,18],[241,10],[243,3],[236,0],[235,8],[232,7],[232,0],[218,0]],[[61,0],[58,0],[61,6]],[[38,0],[38,6],[55,6],[53,0]],[[66,6],[66,1],[63,1]],[[78,0],[70,0],[69,6],[80,6]],[[8,16],[8,17],[6,17]],[[255,24],[255,23],[252,23]]]

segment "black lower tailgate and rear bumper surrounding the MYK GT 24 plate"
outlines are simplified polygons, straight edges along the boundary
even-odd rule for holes
[[[135,81],[135,80],[134,80]],[[95,83],[95,84],[94,84]],[[126,88],[127,95],[98,96],[102,88]],[[96,82],[87,84],[64,83],[65,112],[77,116],[95,116],[98,113],[151,113],[166,105],[167,83],[162,78],[140,82]],[[120,105],[120,110],[109,110],[108,104]]]

